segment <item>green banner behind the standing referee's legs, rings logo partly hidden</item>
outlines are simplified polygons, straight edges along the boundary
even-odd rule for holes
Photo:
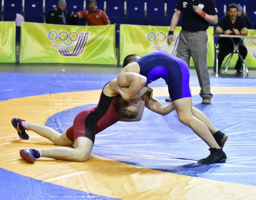
[[[154,51],[165,51],[174,56],[177,53],[177,44],[181,27],[174,31],[174,41],[171,46],[167,44],[168,26],[144,26],[144,25],[120,25],[120,64],[128,54],[140,54],[142,56]],[[207,43],[208,66],[214,65],[214,37],[213,27],[209,27]],[[192,59],[190,66],[194,66]]]

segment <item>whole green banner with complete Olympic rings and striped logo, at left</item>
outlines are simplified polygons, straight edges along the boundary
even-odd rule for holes
[[[116,65],[115,25],[21,24],[20,62]]]

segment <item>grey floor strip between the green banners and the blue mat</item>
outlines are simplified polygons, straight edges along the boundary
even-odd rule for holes
[[[0,63],[0,73],[84,73],[84,74],[118,74],[122,66],[117,65],[82,65],[82,64],[8,64]],[[190,69],[191,76],[197,76],[195,69]],[[210,76],[215,76],[215,73],[209,68]],[[247,74],[245,73],[244,78]],[[223,75],[218,75],[224,77]],[[236,70],[230,67],[227,71],[227,77],[241,77],[237,76]],[[249,69],[248,78],[256,78],[256,68]]]

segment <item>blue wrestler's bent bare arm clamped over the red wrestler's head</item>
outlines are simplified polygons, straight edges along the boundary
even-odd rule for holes
[[[120,87],[128,87],[126,92],[119,90],[119,94],[125,101],[131,100],[145,86],[147,78],[139,73],[121,71],[117,77]]]

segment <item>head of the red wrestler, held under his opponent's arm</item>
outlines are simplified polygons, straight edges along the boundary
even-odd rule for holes
[[[116,98],[116,102],[115,102],[116,114],[122,118],[134,119],[139,114],[139,105],[141,102],[142,102],[141,98],[125,101],[119,95]]]

